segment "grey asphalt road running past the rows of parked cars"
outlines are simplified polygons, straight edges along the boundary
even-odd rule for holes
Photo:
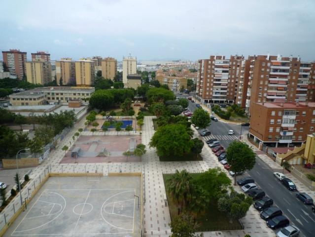
[[[186,95],[187,96],[187,95]],[[180,96],[178,97],[185,97]],[[190,111],[197,109],[196,103],[189,101]],[[236,136],[240,136],[241,126],[220,120],[215,122],[211,120],[211,124],[207,127],[211,131],[211,135],[205,138],[207,140],[210,137],[220,137],[222,135],[221,144],[227,148],[228,145],[234,140],[232,136],[229,139],[227,135],[228,130],[235,131]],[[242,134],[248,132],[248,127],[242,127]],[[220,140],[220,139],[218,139]],[[256,184],[265,191],[266,196],[274,200],[274,206],[278,206],[283,214],[289,218],[290,224],[295,225],[301,230],[300,236],[314,237],[315,236],[315,214],[312,212],[310,205],[305,205],[302,201],[296,198],[297,192],[291,192],[287,190],[280,181],[273,175],[272,170],[267,164],[265,164],[259,157],[256,157],[256,164],[253,169],[247,171],[247,173],[254,178]],[[248,176],[244,174],[243,176]],[[239,176],[239,178],[243,177]],[[276,230],[278,232],[279,230]],[[313,234],[312,234],[313,233]]]

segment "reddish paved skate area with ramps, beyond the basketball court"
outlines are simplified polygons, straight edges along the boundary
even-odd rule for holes
[[[140,135],[80,136],[60,163],[135,162],[139,157],[123,155],[141,143]]]

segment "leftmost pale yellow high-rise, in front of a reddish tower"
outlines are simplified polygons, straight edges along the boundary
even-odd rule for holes
[[[43,59],[26,62],[27,81],[34,84],[46,84],[51,81],[50,62]]]

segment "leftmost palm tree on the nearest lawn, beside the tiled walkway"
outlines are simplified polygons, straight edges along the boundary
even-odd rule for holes
[[[178,215],[192,197],[192,177],[187,170],[178,171],[169,180],[168,192],[178,205]]]

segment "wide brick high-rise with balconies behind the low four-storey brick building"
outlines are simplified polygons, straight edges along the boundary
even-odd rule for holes
[[[258,55],[249,61],[245,102],[249,115],[253,112],[250,107],[254,102],[303,102],[314,98],[313,84],[310,84],[314,83],[314,79],[311,80],[312,63],[280,55]]]

